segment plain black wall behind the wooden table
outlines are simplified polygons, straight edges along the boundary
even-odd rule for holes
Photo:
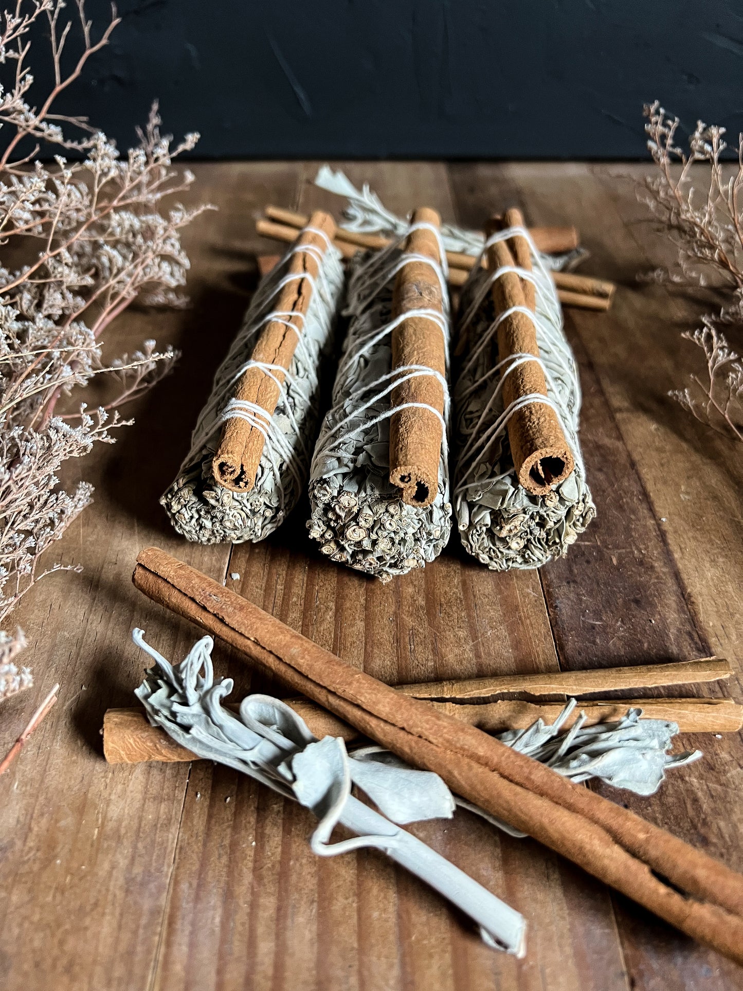
[[[99,33],[107,5],[87,13]],[[643,158],[655,98],[687,127],[743,128],[741,0],[121,0],[119,13],[62,105],[122,146],[155,96],[168,131],[201,132],[200,158]]]

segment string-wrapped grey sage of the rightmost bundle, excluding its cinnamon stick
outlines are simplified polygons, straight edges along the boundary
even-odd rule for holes
[[[518,266],[495,271],[480,267],[479,260],[491,244],[516,234],[529,243],[531,272]],[[512,306],[495,317],[490,290],[493,281],[506,273],[532,282],[535,312]],[[530,354],[499,358],[498,326],[515,312],[534,323],[539,358]],[[595,515],[595,507],[585,483],[578,437],[578,368],[563,330],[554,282],[525,228],[499,231],[483,243],[462,290],[461,314],[458,334],[465,334],[473,343],[461,361],[454,392],[458,451],[454,505],[460,537],[466,550],[493,571],[537,568],[567,552]],[[503,381],[527,362],[542,368],[547,395],[522,395],[504,408]],[[508,446],[509,419],[532,403],[544,403],[555,410],[576,460],[573,474],[546,495],[532,495],[519,485]]]

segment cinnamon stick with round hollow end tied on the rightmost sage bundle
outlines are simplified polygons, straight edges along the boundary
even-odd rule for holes
[[[509,210],[503,218],[505,226],[523,226],[518,210]],[[488,227],[492,232],[500,229],[500,219]],[[514,257],[513,251],[516,252]],[[488,267],[500,269],[518,265],[531,271],[529,246],[523,236],[515,236],[508,242],[498,241],[487,249]],[[492,283],[492,298],[496,314],[512,306],[534,310],[534,285],[516,273],[505,273]],[[530,354],[539,358],[537,333],[533,320],[525,313],[509,314],[498,325],[498,360],[511,355]],[[537,362],[525,362],[512,371],[505,366],[502,395],[503,407],[525,395],[547,395],[544,372]],[[501,373],[502,374],[502,373]],[[555,410],[543,402],[530,402],[516,410],[507,423],[508,442],[513,464],[520,485],[534,495],[546,495],[564,482],[573,472],[575,460],[565,432]]]

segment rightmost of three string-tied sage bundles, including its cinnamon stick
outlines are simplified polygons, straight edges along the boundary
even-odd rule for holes
[[[578,440],[581,386],[555,286],[523,219],[491,233],[462,294],[454,503],[495,571],[562,556],[595,515]]]

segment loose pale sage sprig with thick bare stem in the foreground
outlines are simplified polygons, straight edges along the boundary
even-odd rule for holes
[[[524,955],[523,917],[400,828],[451,819],[454,798],[437,774],[388,761],[391,755],[378,747],[349,754],[341,737],[318,741],[300,716],[270,696],[248,696],[237,715],[223,708],[233,682],[214,678],[210,636],[175,665],[145,641],[142,630],[135,629],[133,636],[156,664],[135,693],[153,725],[198,756],[248,774],[310,809],[319,820],[310,837],[318,856],[379,849],[469,915],[489,946]],[[378,812],[354,798],[352,784],[369,796]],[[356,835],[331,843],[338,824]]]

